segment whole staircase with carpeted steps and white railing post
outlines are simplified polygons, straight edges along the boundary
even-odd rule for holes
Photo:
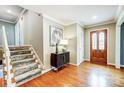
[[[9,47],[5,32],[3,34],[3,86],[19,86],[41,75],[43,63],[31,45]]]

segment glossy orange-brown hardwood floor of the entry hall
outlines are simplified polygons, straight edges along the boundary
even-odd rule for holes
[[[68,65],[58,72],[50,71],[20,87],[124,87],[124,69],[83,62]]]

